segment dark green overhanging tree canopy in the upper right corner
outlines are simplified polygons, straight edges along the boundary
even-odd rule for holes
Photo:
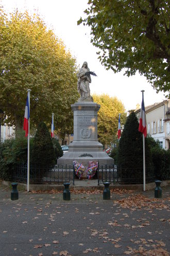
[[[91,26],[99,60],[114,72],[145,75],[158,91],[170,89],[169,1],[89,0],[78,24]]]

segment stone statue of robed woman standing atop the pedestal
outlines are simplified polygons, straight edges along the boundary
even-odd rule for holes
[[[87,72],[90,73],[90,69],[88,68],[88,62],[84,61],[82,67],[79,69],[77,74],[78,82],[77,82],[77,90],[80,94],[80,100],[91,100],[93,98],[90,96],[90,87],[89,84],[91,83],[91,76],[90,74],[86,74]]]

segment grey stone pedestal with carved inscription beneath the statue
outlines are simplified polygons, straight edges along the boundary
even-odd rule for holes
[[[57,164],[73,165],[73,161],[77,161],[87,167],[89,161],[97,161],[99,165],[112,165],[113,159],[103,152],[103,145],[97,139],[97,112],[100,105],[82,101],[71,107],[74,112],[74,140]]]

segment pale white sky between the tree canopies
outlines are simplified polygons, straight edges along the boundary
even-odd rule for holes
[[[81,67],[84,61],[88,62],[90,70],[97,74],[97,77],[92,76],[91,94],[105,93],[110,97],[117,97],[126,111],[135,109],[137,104],[141,105],[141,90],[145,90],[145,106],[165,100],[164,93],[156,93],[139,73],[127,77],[123,75],[124,71],[115,74],[101,65],[97,59],[98,50],[90,42],[90,27],[77,25],[80,17],[86,17],[83,11],[88,8],[87,3],[88,0],[0,0],[5,12],[18,8],[19,11],[27,10],[29,14],[39,14],[47,27],[54,30],[55,35],[76,58],[77,65]]]

